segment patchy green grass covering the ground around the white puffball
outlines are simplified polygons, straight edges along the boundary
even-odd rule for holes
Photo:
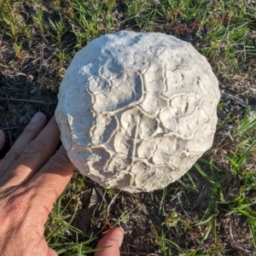
[[[234,99],[222,98],[212,149],[177,183],[162,191],[117,195],[115,189],[98,187],[101,203],[90,215],[85,211],[90,200],[84,198],[90,198],[94,185],[76,173],[45,226],[50,247],[60,255],[90,255],[102,230],[121,225],[127,232],[122,247],[127,255],[253,255],[256,118],[250,105],[255,108],[256,94],[243,90],[253,84],[244,84],[239,90],[225,84],[255,79],[256,3],[0,0],[0,12],[0,83],[1,77],[4,79],[0,96],[46,102],[36,107],[22,103],[24,109],[52,115],[55,105],[48,102],[55,102],[75,52],[93,38],[121,29],[166,32],[188,41],[207,57],[224,94],[234,91],[245,102],[240,106]],[[4,113],[7,108],[9,115]],[[15,115],[12,108],[14,105],[6,103],[0,108],[1,116]],[[16,125],[20,123],[9,126]],[[11,131],[13,139],[19,133]],[[93,224],[83,227],[87,213]]]

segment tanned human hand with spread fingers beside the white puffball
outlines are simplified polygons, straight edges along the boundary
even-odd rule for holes
[[[61,146],[55,118],[46,124],[36,113],[0,161],[0,255],[55,256],[44,240],[44,224],[58,196],[72,177],[74,166]],[[4,133],[0,131],[0,150]],[[54,154],[54,155],[53,155]],[[110,230],[97,247],[108,247],[95,256],[118,256],[123,230]]]

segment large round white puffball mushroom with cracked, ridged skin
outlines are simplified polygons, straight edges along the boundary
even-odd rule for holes
[[[73,165],[102,186],[141,192],[165,188],[211,148],[220,93],[190,44],[117,32],[79,50],[58,97]]]

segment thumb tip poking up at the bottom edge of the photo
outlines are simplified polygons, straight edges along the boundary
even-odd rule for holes
[[[119,256],[121,246],[124,239],[124,230],[121,228],[113,228],[109,230],[108,233],[102,237],[102,239],[98,242],[97,248],[104,248],[101,251],[98,251],[94,254],[94,256]]]

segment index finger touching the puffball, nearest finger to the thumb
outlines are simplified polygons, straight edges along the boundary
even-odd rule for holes
[[[51,212],[52,207],[73,175],[75,167],[67,157],[66,149],[61,146],[49,159],[42,169],[29,182],[35,189],[35,200],[40,201],[42,207]],[[47,216],[45,216],[45,222]]]

